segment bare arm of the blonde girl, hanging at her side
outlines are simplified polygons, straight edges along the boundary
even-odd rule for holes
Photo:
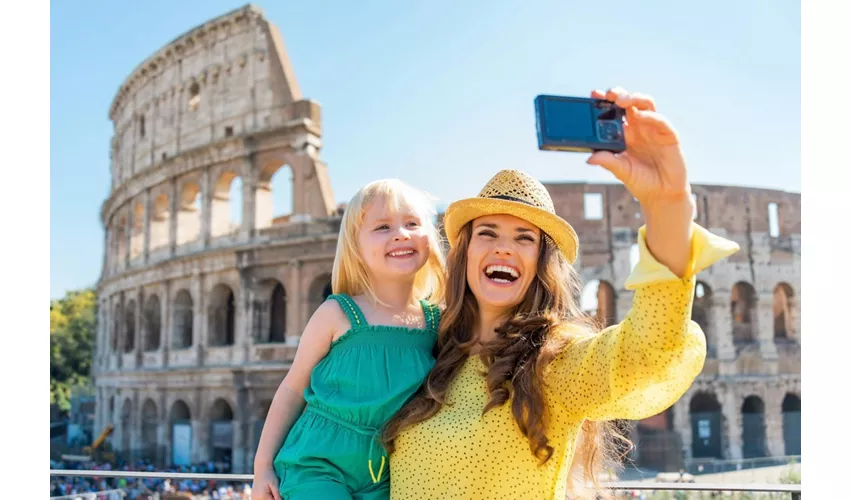
[[[319,306],[310,318],[301,335],[292,367],[280,383],[263,424],[254,457],[254,474],[273,468],[275,455],[304,410],[304,390],[310,384],[313,368],[327,355],[336,332],[347,328],[347,325],[345,314],[333,300]]]

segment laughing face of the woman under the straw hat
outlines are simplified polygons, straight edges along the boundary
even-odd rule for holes
[[[540,229],[512,215],[472,221],[466,250],[466,283],[479,309],[504,314],[525,298],[537,275]]]

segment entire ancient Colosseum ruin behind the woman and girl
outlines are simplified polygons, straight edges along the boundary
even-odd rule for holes
[[[302,97],[278,29],[248,5],[142,62],[109,117],[96,431],[112,425],[125,458],[250,471],[299,332],[330,293],[340,216],[321,108]],[[279,175],[291,210],[274,206]],[[639,205],[613,184],[547,187],[581,238],[583,307],[622,319]],[[633,458],[675,470],[799,455],[800,196],[693,190],[695,220],[741,252],[699,276],[705,368],[674,407],[633,426]]]

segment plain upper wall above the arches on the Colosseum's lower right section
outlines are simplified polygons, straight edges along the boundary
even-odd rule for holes
[[[640,204],[622,184],[545,185],[555,210],[578,233],[585,279],[611,279],[622,285],[630,271],[630,247],[646,223]],[[741,246],[727,263],[714,266],[718,286],[729,289],[736,280],[745,280],[760,293],[768,293],[778,281],[799,281],[799,193],[699,184],[691,188],[697,205],[695,221]],[[586,206],[585,194],[601,196],[601,204]],[[773,231],[771,204],[776,209]]]

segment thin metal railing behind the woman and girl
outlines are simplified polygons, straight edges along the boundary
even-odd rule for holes
[[[135,479],[188,479],[188,480],[212,480],[222,482],[250,483],[254,480],[253,474],[208,474],[193,472],[141,472],[141,471],[116,471],[116,470],[63,470],[51,469],[51,477],[99,477],[99,478],[135,478]],[[606,487],[619,492],[634,491],[665,491],[665,492],[705,492],[705,493],[768,493],[787,494],[786,498],[800,500],[802,487],[799,484],[720,484],[720,483],[662,483],[662,482],[638,482],[621,481],[607,483]],[[102,494],[102,493],[97,493]],[[84,497],[84,494],[77,495]],[[53,497],[67,498],[67,497]]]

